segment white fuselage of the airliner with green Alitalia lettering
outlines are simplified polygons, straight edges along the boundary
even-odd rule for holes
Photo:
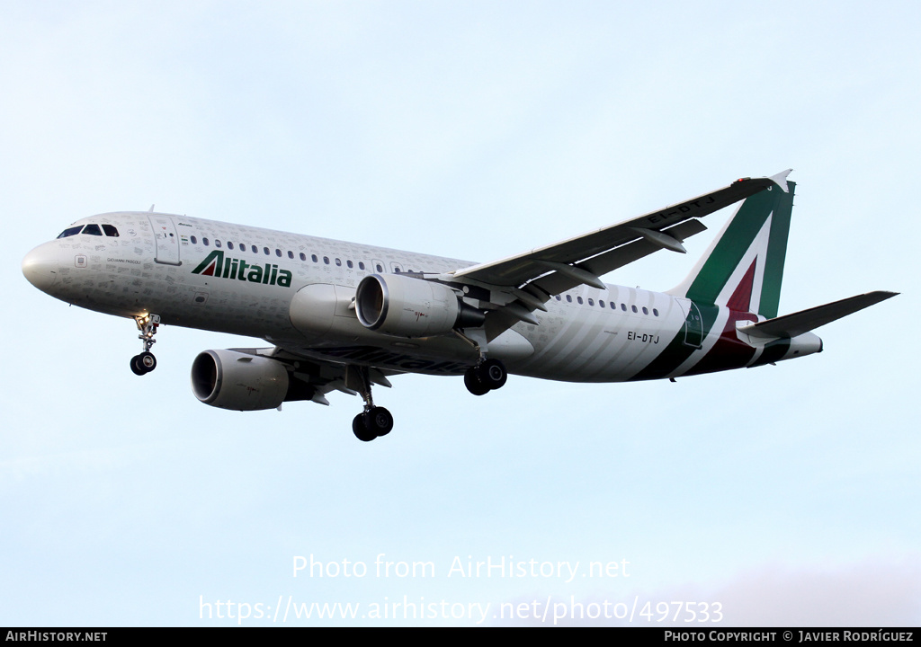
[[[471,262],[178,215],[101,214],[75,225],[84,223],[112,225],[118,236],[60,237],[23,263],[32,283],[68,303],[122,317],[157,313],[165,324],[258,337],[327,362],[461,375],[477,360],[459,336],[382,335],[362,326],[351,306],[369,274],[439,275]],[[217,250],[219,269],[203,267]],[[518,375],[634,378],[681,333],[690,302],[606,287],[554,296],[546,312],[534,312],[539,325],[520,321],[490,341],[490,356]],[[668,376],[693,367],[729,316],[721,308],[714,332],[694,341],[694,352]]]

